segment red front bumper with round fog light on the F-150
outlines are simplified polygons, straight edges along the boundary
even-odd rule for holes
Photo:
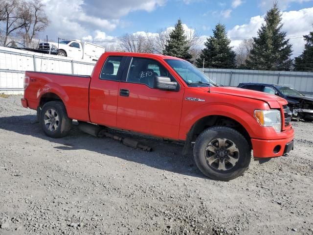
[[[280,157],[293,149],[293,129],[287,131],[288,137],[279,140],[251,139],[254,158]]]

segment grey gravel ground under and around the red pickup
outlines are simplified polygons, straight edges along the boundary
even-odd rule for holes
[[[313,234],[313,123],[292,123],[288,156],[218,182],[179,143],[48,138],[20,98],[0,97],[1,235]]]

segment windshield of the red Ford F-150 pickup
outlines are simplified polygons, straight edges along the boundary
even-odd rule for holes
[[[165,59],[165,61],[187,83],[188,87],[219,86],[188,61],[175,59]]]

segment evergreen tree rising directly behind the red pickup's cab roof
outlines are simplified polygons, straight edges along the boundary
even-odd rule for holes
[[[190,60],[192,56],[188,51],[187,37],[179,19],[177,24],[175,24],[174,30],[170,33],[170,38],[167,40],[163,54]]]

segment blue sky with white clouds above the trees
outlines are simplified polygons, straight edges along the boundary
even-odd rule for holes
[[[156,33],[181,19],[203,41],[216,24],[226,25],[234,49],[257,35],[273,0],[43,0],[50,25],[43,32],[60,38],[114,40],[126,33]],[[303,35],[313,31],[313,0],[278,0],[283,30],[293,56],[304,48]],[[42,35],[42,36],[43,36]]]

